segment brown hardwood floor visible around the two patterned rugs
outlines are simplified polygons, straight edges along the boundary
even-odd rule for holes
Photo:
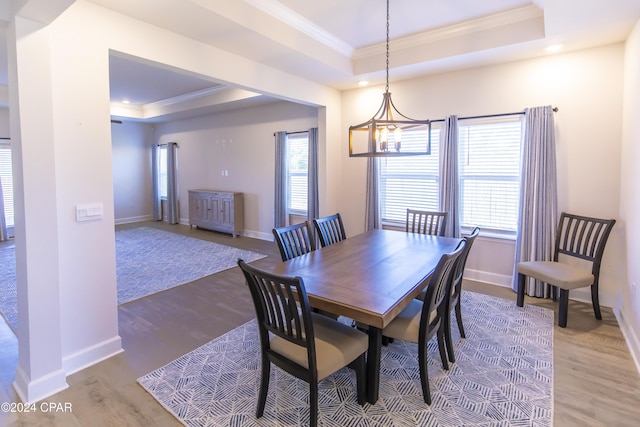
[[[268,255],[279,262],[275,243],[157,222],[140,225],[192,235]],[[465,289],[506,299],[509,289],[465,282]],[[554,308],[549,300],[527,304]],[[557,307],[555,307],[557,313]],[[570,301],[566,329],[554,329],[554,425],[636,426],[640,423],[640,376],[611,309],[597,321],[591,306]],[[239,269],[226,270],[141,298],[118,309],[125,351],[68,377],[69,388],[45,399],[71,404],[71,412],[7,413],[0,426],[179,426],[136,379],[254,317]],[[557,323],[557,320],[556,320]],[[0,318],[0,403],[17,402],[11,383],[17,340]]]

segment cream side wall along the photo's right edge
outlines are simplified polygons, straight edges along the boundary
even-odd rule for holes
[[[640,369],[640,21],[625,46],[624,132],[620,218],[625,230],[626,280],[620,281],[617,309],[621,327]]]

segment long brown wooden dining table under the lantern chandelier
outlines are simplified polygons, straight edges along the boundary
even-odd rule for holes
[[[265,270],[301,277],[313,308],[368,326],[366,390],[367,401],[374,404],[380,390],[382,329],[424,290],[442,255],[459,242],[374,229]]]

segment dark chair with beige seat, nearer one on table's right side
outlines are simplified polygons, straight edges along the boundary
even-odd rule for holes
[[[431,404],[429,391],[429,374],[427,370],[427,344],[434,335],[438,339],[438,350],[442,367],[449,369],[445,348],[444,317],[449,315],[445,311],[445,301],[455,270],[455,263],[464,251],[466,242],[461,240],[456,249],[442,255],[435,271],[429,279],[429,286],[424,301],[412,300],[398,316],[383,330],[382,335],[418,344],[418,366],[420,368],[420,383],[422,395],[427,404]]]

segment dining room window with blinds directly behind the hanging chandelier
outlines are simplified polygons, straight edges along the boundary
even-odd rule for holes
[[[417,138],[413,140],[414,144],[420,143]],[[409,132],[404,132],[402,144],[412,144]],[[407,208],[438,210],[439,145],[440,129],[434,127],[431,129],[430,155],[379,158],[383,223],[404,224]]]

